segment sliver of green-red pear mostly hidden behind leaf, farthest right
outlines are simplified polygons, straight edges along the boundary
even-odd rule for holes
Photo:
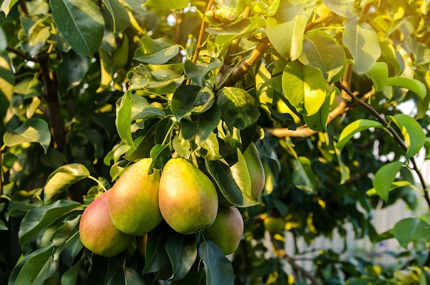
[[[266,177],[256,145],[254,143],[249,144],[242,155],[245,163],[247,163],[249,177],[251,178],[251,197],[258,198],[264,189]]]

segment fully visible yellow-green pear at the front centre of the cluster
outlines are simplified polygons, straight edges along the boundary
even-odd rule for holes
[[[166,223],[183,234],[212,225],[218,195],[212,181],[183,158],[170,159],[161,172],[159,207]]]

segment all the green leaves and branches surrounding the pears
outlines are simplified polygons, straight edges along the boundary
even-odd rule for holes
[[[1,284],[429,283],[416,161],[430,159],[428,1],[3,0],[1,11]],[[249,174],[230,171],[246,168],[251,142],[266,175],[258,200]],[[172,156],[240,207],[236,253],[165,223],[145,258],[135,243],[109,259],[84,249],[84,207],[134,161],[161,169]],[[399,199],[425,215],[378,232],[370,212]],[[310,272],[267,218],[308,244],[350,223],[403,249],[389,266],[326,250]]]

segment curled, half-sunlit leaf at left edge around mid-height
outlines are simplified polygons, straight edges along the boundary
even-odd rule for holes
[[[14,146],[26,142],[38,143],[43,147],[45,153],[51,143],[51,133],[47,122],[43,119],[27,119],[21,126],[15,130],[6,132],[3,135],[3,141],[6,146]]]

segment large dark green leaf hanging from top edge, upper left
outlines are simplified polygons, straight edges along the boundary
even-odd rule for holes
[[[102,44],[104,19],[98,5],[91,0],[49,0],[58,30],[71,48],[91,57]]]

